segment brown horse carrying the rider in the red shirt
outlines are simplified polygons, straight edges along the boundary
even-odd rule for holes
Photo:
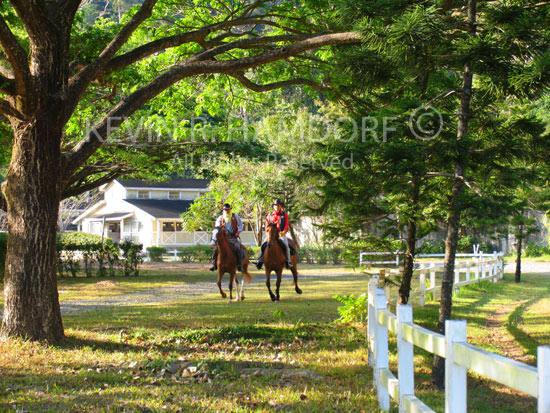
[[[279,230],[277,229],[277,225],[274,223],[269,224],[266,228],[266,232],[267,245],[264,251],[265,285],[269,291],[271,301],[278,302],[279,288],[281,286],[281,275],[286,263],[286,253],[279,244]],[[293,247],[295,247],[293,240],[289,240],[289,242],[293,243]],[[294,250],[296,250],[296,248],[294,248]],[[292,271],[292,275],[294,276],[294,289],[297,294],[302,294],[302,290],[298,287],[298,269],[296,268],[296,265],[298,264],[298,254],[294,254],[290,257],[290,264],[290,271]],[[275,274],[277,274],[277,288],[275,290],[275,294],[271,291],[270,278],[272,271],[275,271]]]

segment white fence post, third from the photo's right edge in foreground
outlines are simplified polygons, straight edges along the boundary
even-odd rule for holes
[[[413,345],[403,339],[403,323],[412,323],[410,304],[397,306],[397,377],[399,378],[399,412],[404,413],[404,396],[414,396]]]

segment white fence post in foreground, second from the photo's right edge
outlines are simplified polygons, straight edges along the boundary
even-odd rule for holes
[[[445,413],[466,413],[466,367],[454,362],[454,343],[466,342],[466,321],[445,321]]]

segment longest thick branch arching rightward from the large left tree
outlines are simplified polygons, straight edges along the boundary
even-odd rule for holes
[[[68,179],[76,169],[84,164],[103,145],[105,140],[108,139],[109,134],[120,126],[128,116],[162,91],[184,78],[210,73],[234,74],[245,69],[296,56],[306,50],[328,45],[357,43],[361,39],[362,36],[355,32],[320,34],[276,50],[240,59],[197,61],[202,56],[187,59],[118,103],[84,140],[80,141],[70,153],[65,154],[65,179]]]

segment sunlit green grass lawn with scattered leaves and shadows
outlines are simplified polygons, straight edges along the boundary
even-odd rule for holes
[[[302,273],[344,271],[326,266],[305,267]],[[59,288],[66,292],[60,299],[213,283],[215,276],[203,270],[148,270],[138,278],[108,280],[115,284],[99,288],[98,278],[61,280]],[[536,345],[550,343],[550,284],[535,274],[526,274],[520,285],[510,280],[462,289],[453,316],[468,320],[470,342],[533,362]],[[358,273],[304,277],[300,287],[302,296],[283,280],[282,301],[272,303],[256,272],[242,303],[202,294],[68,314],[62,345],[0,343],[0,409],[376,411],[364,328],[335,324],[340,303],[332,298],[365,292],[367,278]],[[415,308],[416,322],[435,329],[436,320],[436,303]],[[393,338],[390,345],[395,351]],[[430,385],[431,356],[416,354],[417,395],[442,411],[443,396]],[[396,357],[390,363],[395,370]],[[469,411],[536,409],[534,399],[478,377],[469,378],[468,402]]]

